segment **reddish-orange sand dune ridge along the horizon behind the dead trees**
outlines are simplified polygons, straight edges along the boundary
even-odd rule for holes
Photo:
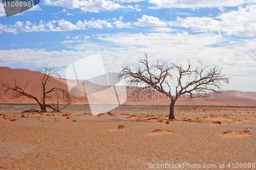
[[[21,87],[24,87],[27,81],[29,83],[26,91],[38,99],[41,96],[40,80],[43,74],[38,71],[31,71],[29,69],[12,69],[9,67],[0,67],[0,80],[4,83],[14,84],[16,79]],[[73,82],[74,80],[68,80]],[[95,85],[89,81],[84,83],[85,86],[90,87],[91,91],[101,91],[109,88],[108,86]],[[60,87],[68,90],[67,80],[52,77],[49,79],[47,89],[52,87]],[[125,105],[169,105],[167,96],[155,92],[155,94],[149,94],[148,92],[139,93],[137,97],[132,96],[131,87],[127,88],[127,100]],[[256,106],[256,92],[243,92],[238,90],[223,91],[223,95],[215,96],[213,93],[209,93],[209,97],[205,100],[202,99],[190,99],[189,96],[180,96],[176,105],[188,105],[188,106]],[[103,94],[104,95],[104,94]],[[107,95],[107,94],[105,94]],[[33,99],[29,99],[25,96],[20,98],[12,98],[12,92],[4,94],[3,90],[0,90],[0,103],[24,103],[32,104],[36,103]],[[113,96],[110,96],[110,98]],[[165,99],[164,99],[165,98]],[[57,98],[55,98],[57,100]],[[58,99],[61,103],[61,100]],[[88,104],[86,97],[76,97],[76,104]],[[49,102],[50,103],[50,102]],[[101,100],[95,98],[93,104],[102,104]]]

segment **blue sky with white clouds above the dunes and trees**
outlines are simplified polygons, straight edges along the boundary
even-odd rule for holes
[[[54,66],[100,53],[106,71],[152,62],[223,68],[224,90],[256,91],[252,0],[41,0],[6,17],[0,4],[0,66]]]

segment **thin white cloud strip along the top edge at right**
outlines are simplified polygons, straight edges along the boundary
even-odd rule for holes
[[[148,3],[153,4],[151,9],[159,8],[219,8],[219,7],[237,7],[240,5],[254,4],[254,0],[191,0],[191,1],[180,1],[180,0],[149,0]]]

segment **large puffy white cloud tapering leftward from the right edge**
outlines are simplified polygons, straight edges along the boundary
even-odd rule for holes
[[[217,31],[226,35],[253,37],[256,34],[256,5],[239,7],[237,11],[223,12],[215,18],[186,17],[177,18],[170,24],[194,29],[200,32]]]

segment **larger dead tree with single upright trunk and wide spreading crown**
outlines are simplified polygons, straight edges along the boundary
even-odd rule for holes
[[[174,89],[171,88],[169,80],[173,80],[170,71],[178,70],[178,85]],[[187,68],[178,66],[172,62],[170,65],[167,62],[152,64],[147,59],[147,54],[144,58],[138,60],[137,68],[132,69],[129,65],[122,65],[122,70],[119,72],[120,77],[126,79],[127,84],[134,86],[134,92],[138,93],[142,90],[157,90],[170,99],[169,119],[175,119],[174,106],[180,95],[190,94],[190,98],[206,98],[208,92],[215,94],[221,93],[221,83],[229,83],[229,78],[221,73],[222,69],[215,67],[197,67],[194,68],[188,61]],[[184,83],[182,79],[188,81]],[[173,95],[171,91],[174,90]]]

